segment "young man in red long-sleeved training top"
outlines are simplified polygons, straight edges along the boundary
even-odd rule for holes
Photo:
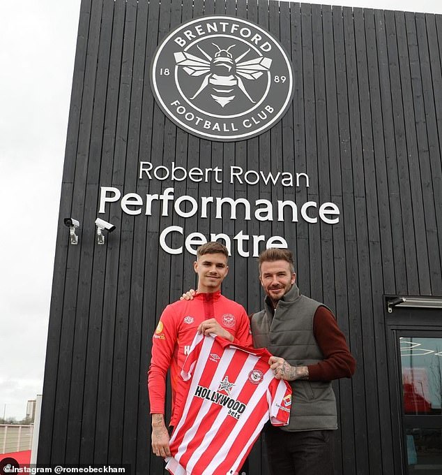
[[[213,333],[230,342],[252,346],[250,324],[245,309],[220,293],[229,272],[229,251],[218,242],[208,242],[197,250],[194,263],[198,275],[197,295],[193,300],[178,300],[167,305],[153,335],[148,393],[152,415],[152,448],[160,457],[170,456],[169,432],[165,424],[166,376],[170,369],[172,417],[176,425],[188,386],[179,379],[181,367],[197,331]]]

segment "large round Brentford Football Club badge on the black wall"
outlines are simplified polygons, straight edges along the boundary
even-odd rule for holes
[[[217,15],[181,24],[160,43],[151,86],[167,117],[185,131],[245,140],[270,129],[289,108],[293,71],[268,31]]]

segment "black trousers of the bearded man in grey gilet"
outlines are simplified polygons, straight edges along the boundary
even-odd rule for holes
[[[266,426],[271,475],[334,475],[334,430],[287,432]]]

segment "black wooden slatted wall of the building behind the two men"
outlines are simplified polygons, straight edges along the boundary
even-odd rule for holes
[[[294,100],[270,131],[241,142],[189,135],[156,105],[148,71],[158,41],[193,17],[237,15],[280,38],[294,64]],[[167,226],[282,235],[298,284],[335,309],[358,360],[335,384],[338,473],[393,474],[383,294],[442,295],[442,17],[277,1],[83,0],[63,174],[38,451],[45,463],[130,463],[151,456],[146,369],[165,305],[195,285],[194,256],[159,247]],[[154,166],[307,173],[310,187],[140,180]],[[101,186],[122,194],[332,201],[339,224],[137,217],[118,203],[95,244]],[[63,217],[79,219],[68,244]],[[173,244],[181,238],[174,235]],[[254,258],[234,251],[223,292],[261,307]],[[168,396],[168,404],[169,402]],[[250,473],[267,474],[257,444]],[[135,473],[135,472],[134,472]]]

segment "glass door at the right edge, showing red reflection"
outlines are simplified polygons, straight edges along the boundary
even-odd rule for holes
[[[398,332],[409,475],[442,474],[442,332]]]

